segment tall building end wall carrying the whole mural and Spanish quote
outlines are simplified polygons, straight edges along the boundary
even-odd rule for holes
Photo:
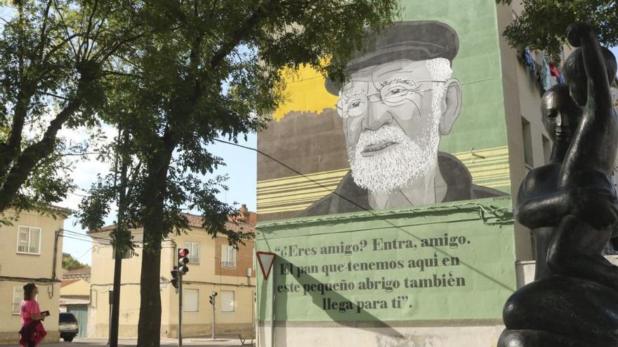
[[[513,207],[560,67],[501,36],[517,1],[400,2],[343,85],[289,74],[258,134],[286,165],[258,156],[258,346],[496,346],[534,278]]]

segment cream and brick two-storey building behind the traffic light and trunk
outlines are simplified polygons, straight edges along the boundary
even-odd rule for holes
[[[246,232],[254,233],[256,214],[246,212]],[[202,219],[186,215],[187,233],[164,240],[161,253],[161,336],[178,336],[178,294],[171,283],[178,249],[187,248],[189,272],[183,276],[183,336],[211,336],[213,306],[209,297],[217,292],[214,316],[215,334],[252,332],[254,330],[254,295],[256,273],[254,241],[245,241],[235,250],[224,236],[212,238],[202,228]],[[233,227],[233,226],[230,226]],[[108,336],[113,285],[112,247],[105,241],[109,228],[88,233],[93,237],[91,266],[91,304],[88,313],[88,336]],[[143,230],[131,230],[138,247],[136,257],[123,259],[120,293],[119,336],[136,337],[140,310],[140,269]]]

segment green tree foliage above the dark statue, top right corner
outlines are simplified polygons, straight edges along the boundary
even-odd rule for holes
[[[497,0],[511,4],[513,0]],[[521,0],[524,9],[504,31],[515,48],[543,50],[554,62],[560,61],[565,31],[574,22],[595,28],[605,46],[618,44],[618,1],[616,0]]]

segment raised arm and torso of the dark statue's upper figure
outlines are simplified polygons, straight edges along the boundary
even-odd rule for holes
[[[616,76],[616,60],[610,50],[599,45],[588,25],[570,25],[567,39],[579,48],[567,58],[563,72],[570,94],[584,114],[563,163],[558,182],[562,189],[611,177],[618,146],[618,120],[609,83]]]

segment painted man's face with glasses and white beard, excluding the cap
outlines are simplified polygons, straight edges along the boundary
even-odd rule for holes
[[[388,193],[435,163],[445,82],[433,80],[424,60],[396,60],[351,76],[337,107],[358,185]]]

